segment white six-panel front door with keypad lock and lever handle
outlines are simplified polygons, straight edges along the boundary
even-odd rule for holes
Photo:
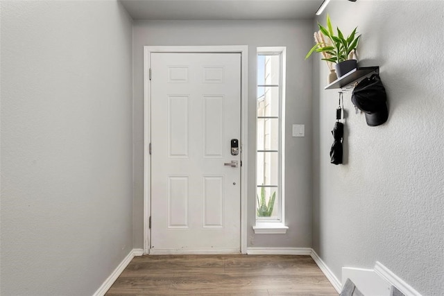
[[[240,252],[240,117],[240,53],[151,53],[151,254]]]

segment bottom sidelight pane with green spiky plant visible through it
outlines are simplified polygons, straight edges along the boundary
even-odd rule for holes
[[[280,197],[278,187],[257,187],[256,203],[257,218],[260,218],[261,220],[277,220],[280,218]]]

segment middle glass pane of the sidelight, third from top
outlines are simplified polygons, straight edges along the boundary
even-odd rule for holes
[[[257,119],[257,150],[279,150],[279,119]]]

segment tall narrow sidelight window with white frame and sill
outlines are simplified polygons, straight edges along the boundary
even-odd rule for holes
[[[257,49],[255,233],[285,233],[284,82],[285,48]]]

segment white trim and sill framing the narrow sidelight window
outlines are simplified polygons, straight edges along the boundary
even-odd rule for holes
[[[284,181],[285,181],[285,81],[286,81],[286,53],[287,48],[285,46],[267,46],[257,47],[257,53],[265,54],[280,54],[281,55],[281,81],[280,81],[280,99],[281,99],[281,112],[280,112],[280,219],[271,220],[257,220],[253,225],[255,234],[286,234],[288,226],[285,225],[285,198],[284,198]],[[257,59],[257,58],[256,58]],[[257,85],[257,83],[256,83]],[[257,87],[256,87],[257,89]],[[257,112],[257,111],[256,111]],[[257,116],[256,116],[257,121]],[[257,132],[256,132],[257,135]],[[257,150],[257,149],[256,149]],[[257,157],[257,152],[255,153]],[[256,161],[257,162],[257,161]],[[257,175],[255,173],[255,175]],[[257,183],[257,182],[256,182]],[[255,184],[257,186],[257,184]],[[256,208],[256,204],[255,204]]]

